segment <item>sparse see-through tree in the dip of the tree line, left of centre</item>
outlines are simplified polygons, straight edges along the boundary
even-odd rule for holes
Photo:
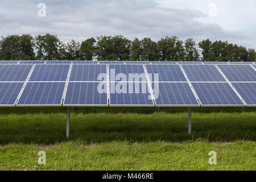
[[[65,46],[65,58],[67,60],[81,60],[80,43],[75,40],[71,40]]]

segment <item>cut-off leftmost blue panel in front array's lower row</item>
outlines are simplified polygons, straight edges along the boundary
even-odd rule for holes
[[[0,82],[0,106],[13,105],[24,82]]]

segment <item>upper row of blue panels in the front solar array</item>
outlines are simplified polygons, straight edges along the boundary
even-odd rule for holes
[[[33,69],[32,69],[33,67]],[[177,64],[1,64],[0,81],[256,81],[256,65],[177,65]],[[108,69],[109,68],[109,71]],[[183,73],[184,71],[184,73]],[[120,75],[127,77],[119,77]],[[138,74],[139,80],[135,80]],[[134,76],[131,77],[131,76]],[[143,77],[144,76],[144,77]],[[131,79],[132,80],[129,80]],[[187,80],[188,79],[188,80]]]

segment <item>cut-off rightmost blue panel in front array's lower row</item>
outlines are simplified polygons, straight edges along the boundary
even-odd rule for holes
[[[256,82],[232,82],[247,105],[256,105]]]

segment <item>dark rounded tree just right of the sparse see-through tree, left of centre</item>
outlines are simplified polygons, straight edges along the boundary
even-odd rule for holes
[[[80,51],[83,60],[93,60],[96,51],[96,40],[94,38],[84,40],[81,43]]]

